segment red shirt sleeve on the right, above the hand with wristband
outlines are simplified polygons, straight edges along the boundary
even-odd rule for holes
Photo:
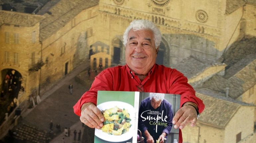
[[[186,102],[193,102],[197,105],[200,113],[204,109],[203,101],[195,96],[195,91],[188,83],[187,77],[176,69],[171,72],[169,93],[181,95],[181,107]]]

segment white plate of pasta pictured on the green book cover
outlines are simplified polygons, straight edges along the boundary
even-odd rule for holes
[[[137,134],[134,107],[121,101],[103,102],[97,107],[105,118],[103,127],[95,128],[95,136],[108,142],[123,142]],[[135,130],[135,132],[134,132]]]

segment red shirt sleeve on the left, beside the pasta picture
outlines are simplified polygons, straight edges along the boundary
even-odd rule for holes
[[[113,77],[111,76],[109,71],[103,70],[101,73],[99,73],[95,77],[91,85],[91,88],[87,92],[85,92],[81,96],[81,98],[77,101],[77,103],[73,106],[74,113],[78,116],[81,116],[81,107],[85,103],[91,102],[96,105],[98,90],[112,91],[113,90],[112,81],[113,81]]]

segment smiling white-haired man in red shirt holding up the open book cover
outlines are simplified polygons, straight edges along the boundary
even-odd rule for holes
[[[150,21],[134,20],[123,36],[126,65],[107,68],[99,73],[89,91],[75,104],[74,112],[91,128],[103,126],[104,117],[96,107],[97,91],[142,91],[181,95],[181,108],[173,118],[175,128],[194,126],[204,109],[202,101],[188,84],[188,79],[176,69],[157,65],[161,43],[160,30]],[[186,106],[189,105],[189,106]],[[180,130],[179,141],[182,142]]]

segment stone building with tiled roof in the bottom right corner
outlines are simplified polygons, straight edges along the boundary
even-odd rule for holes
[[[197,90],[196,96],[205,104],[205,110],[195,127],[185,127],[183,138],[190,143],[252,143],[255,141],[254,110],[255,106],[232,101],[216,92],[212,95]],[[203,90],[205,91],[205,90]],[[202,91],[202,92],[203,92]]]

